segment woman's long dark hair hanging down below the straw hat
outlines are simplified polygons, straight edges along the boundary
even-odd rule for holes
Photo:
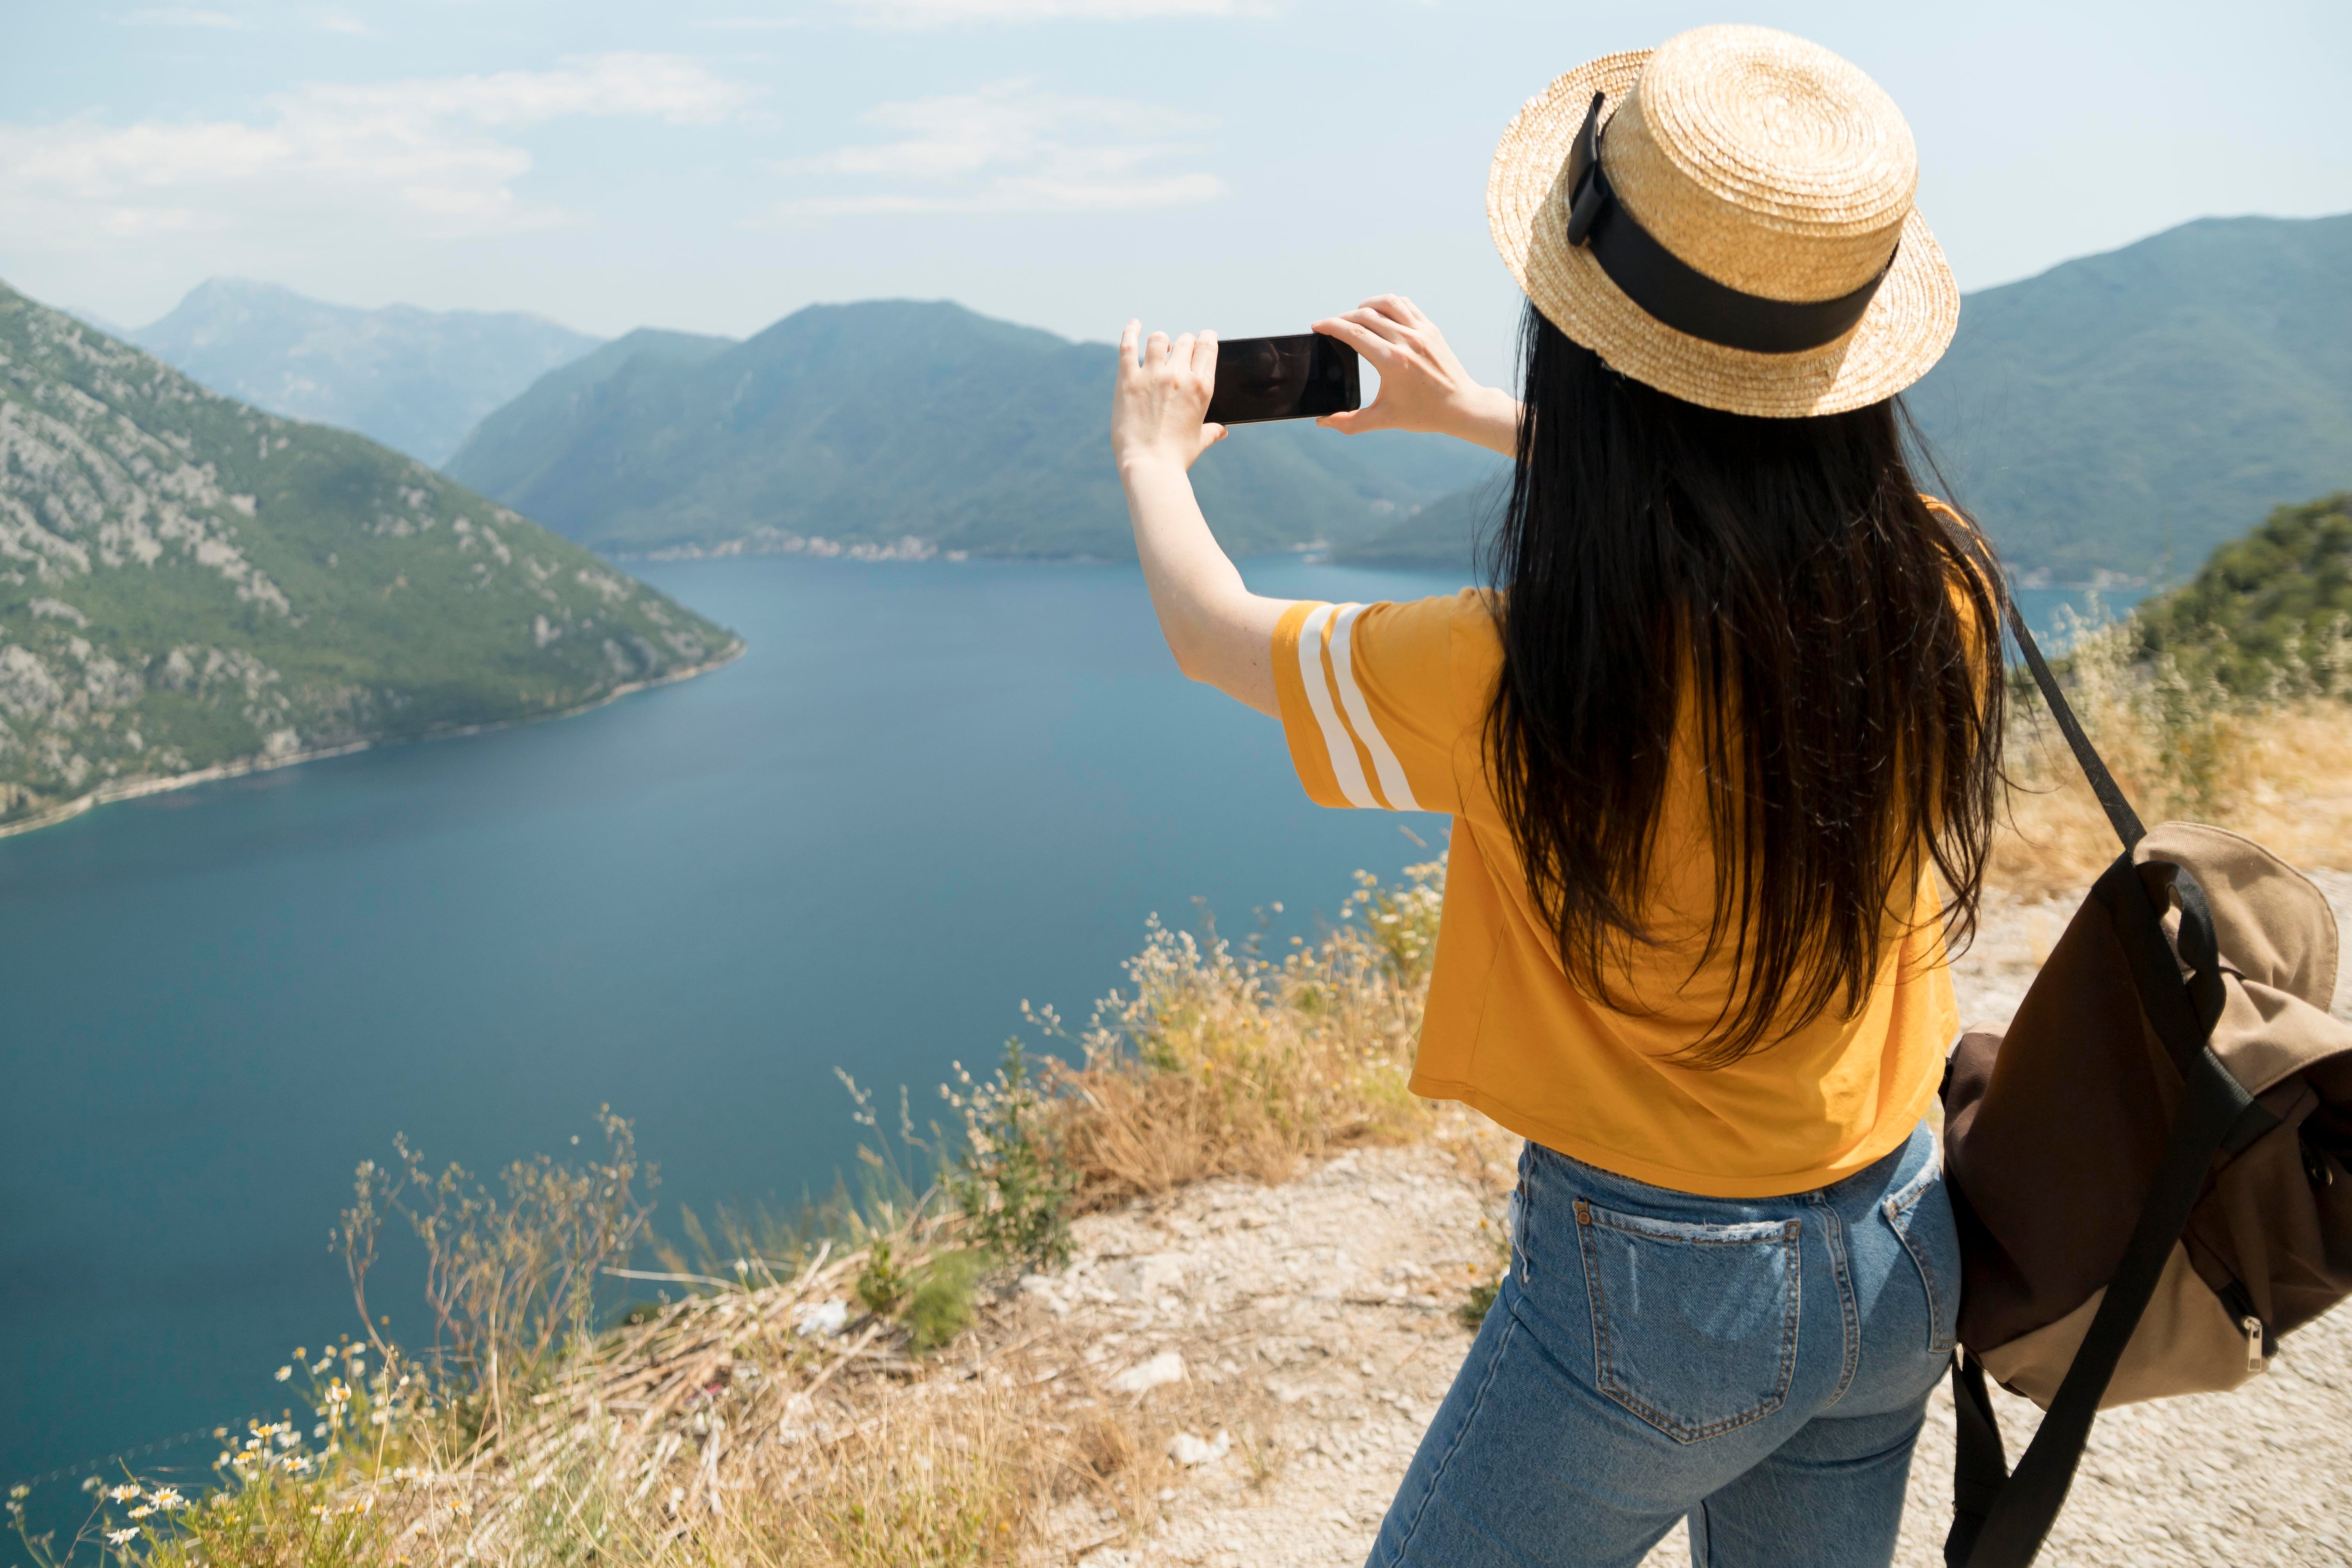
[[[1489,548],[1489,769],[1569,980],[1609,1004],[1646,929],[1677,715],[1715,846],[1731,999],[1684,1060],[1851,1018],[1922,856],[1976,931],[2002,785],[2002,576],[1919,496],[1910,421],[1719,414],[1529,308],[1526,418]],[[1684,684],[1691,691],[1684,691]]]

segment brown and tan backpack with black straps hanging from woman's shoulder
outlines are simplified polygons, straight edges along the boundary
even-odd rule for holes
[[[2140,827],[2011,604],[2124,853],[1945,1072],[1964,1258],[1947,1568],[2025,1568],[2107,1406],[2232,1389],[2352,1293],[2336,914],[2220,827]],[[1985,1373],[2046,1410],[2009,1472]]]

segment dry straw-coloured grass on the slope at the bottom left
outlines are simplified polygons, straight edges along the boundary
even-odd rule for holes
[[[160,1488],[127,1483],[92,1540],[153,1568],[981,1568],[1056,1530],[1148,1528],[1176,1432],[1265,1418],[1265,1394],[1242,1385],[1110,1389],[1101,1352],[1018,1293],[936,1359],[908,1356],[884,1319],[800,1333],[856,1267],[682,1300],[574,1361],[492,1441],[437,1420],[397,1363],[327,1378],[313,1399],[327,1441],[256,1427],[209,1497],[155,1507]]]

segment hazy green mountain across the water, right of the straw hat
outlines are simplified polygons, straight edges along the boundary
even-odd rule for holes
[[[2204,219],[1962,301],[1907,404],[2025,581],[2164,576],[2352,487],[2352,214]],[[1468,498],[1362,562],[1468,562]],[[1414,527],[1418,524],[1418,527]]]

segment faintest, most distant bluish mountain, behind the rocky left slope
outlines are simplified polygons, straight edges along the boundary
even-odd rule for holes
[[[198,284],[127,336],[216,393],[358,430],[433,468],[485,414],[597,346],[536,315],[355,310],[242,277]]]

